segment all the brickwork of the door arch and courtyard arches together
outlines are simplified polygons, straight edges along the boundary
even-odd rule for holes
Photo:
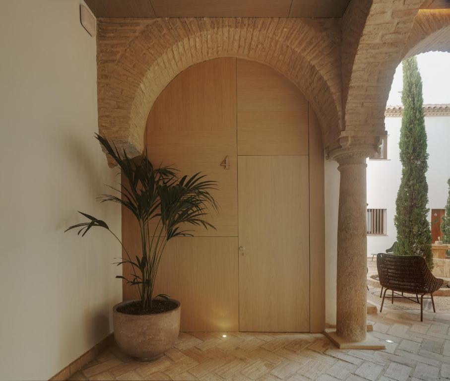
[[[405,56],[450,51],[450,9],[423,4],[352,0],[341,19],[100,18],[99,131],[138,155],[168,83],[193,64],[233,56],[268,64],[299,87],[328,152],[376,148],[396,66]]]

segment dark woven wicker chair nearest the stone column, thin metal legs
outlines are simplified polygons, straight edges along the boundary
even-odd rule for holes
[[[436,278],[431,273],[425,258],[419,255],[408,256],[380,253],[377,254],[377,269],[380,284],[385,288],[380,312],[383,311],[387,290],[392,291],[392,304],[394,303],[394,292],[401,292],[401,295],[397,294],[399,296],[395,298],[405,298],[413,302],[416,302],[416,300],[403,296],[403,293],[415,294],[417,303],[420,304],[420,321],[423,321],[424,295],[431,295],[433,311],[436,312],[433,293],[439,290],[444,280]]]

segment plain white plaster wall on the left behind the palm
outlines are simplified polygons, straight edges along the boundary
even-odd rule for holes
[[[120,234],[94,139],[96,41],[77,0],[1,2],[0,379],[46,380],[111,331],[121,254],[106,231],[64,233],[76,210]]]

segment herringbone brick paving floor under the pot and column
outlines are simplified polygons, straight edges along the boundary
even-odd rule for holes
[[[337,350],[321,334],[180,333],[152,363],[113,345],[69,380],[442,381],[450,379],[450,314],[387,310],[369,315],[386,350]]]

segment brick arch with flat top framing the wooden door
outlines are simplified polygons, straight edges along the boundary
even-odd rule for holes
[[[339,39],[333,19],[101,19],[99,131],[139,154],[148,113],[167,84],[193,64],[232,56],[268,64],[295,83],[326,144],[342,127]]]

